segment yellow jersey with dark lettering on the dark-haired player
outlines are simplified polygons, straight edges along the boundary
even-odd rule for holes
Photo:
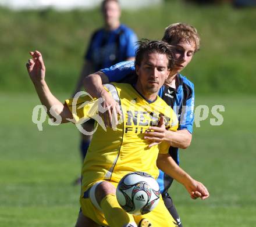
[[[106,84],[105,89],[119,103],[122,110],[120,124],[115,129],[102,128],[98,125],[93,134],[82,168],[81,193],[84,193],[95,181],[105,180],[119,182],[120,179],[133,171],[147,172],[154,178],[159,175],[157,168],[158,153],[168,153],[169,145],[148,147],[150,142],[144,140],[144,132],[150,126],[157,126],[159,116],[165,117],[166,129],[176,131],[178,120],[175,112],[159,96],[154,102],[148,102],[130,84]],[[79,120],[98,115],[95,106],[97,100],[87,102],[83,108],[79,105],[87,98],[80,98],[76,106],[72,99],[66,105],[73,111],[73,118]],[[94,110],[92,110],[94,109]],[[90,112],[90,114],[88,114]],[[94,118],[95,119],[95,118]],[[95,122],[98,124],[100,122]]]

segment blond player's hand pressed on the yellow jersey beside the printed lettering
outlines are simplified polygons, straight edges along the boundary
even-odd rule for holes
[[[150,140],[152,143],[148,147],[158,145],[166,140],[165,118],[160,117],[157,127],[148,128],[150,131],[145,131],[145,140]]]

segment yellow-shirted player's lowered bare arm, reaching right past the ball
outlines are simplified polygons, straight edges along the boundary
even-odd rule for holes
[[[182,183],[192,199],[197,199],[198,197],[207,199],[209,197],[207,188],[201,182],[195,181],[195,179],[191,178],[187,172],[182,170],[169,154],[158,154],[157,166],[160,170],[165,172],[165,174],[172,176],[173,179]]]

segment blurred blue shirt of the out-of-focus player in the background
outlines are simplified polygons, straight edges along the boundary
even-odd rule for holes
[[[135,56],[138,38],[129,27],[121,24],[115,30],[100,28],[92,35],[85,59],[98,71]]]

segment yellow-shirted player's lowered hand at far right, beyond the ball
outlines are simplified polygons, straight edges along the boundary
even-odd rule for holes
[[[190,193],[191,199],[201,198],[205,200],[209,197],[207,188],[199,181],[193,181],[189,185],[185,185],[187,191]]]

